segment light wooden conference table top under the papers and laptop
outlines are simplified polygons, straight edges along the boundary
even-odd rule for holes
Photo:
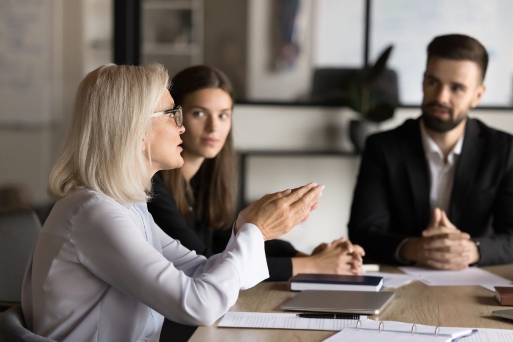
[[[513,280],[513,264],[489,266],[483,269]],[[382,266],[382,272],[400,273],[393,266]],[[501,307],[494,293],[479,286],[426,286],[419,281],[390,289],[396,297],[378,315],[371,319],[398,320],[431,326],[513,329],[513,320],[491,315],[492,310],[511,309]],[[241,291],[237,303],[230,311],[284,312],[280,304],[292,297],[286,282],[266,281]],[[218,320],[219,322],[219,320]],[[218,328],[218,322],[210,327],[199,327],[189,341],[321,341],[334,331]]]

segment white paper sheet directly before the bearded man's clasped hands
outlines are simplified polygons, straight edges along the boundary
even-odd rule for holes
[[[422,267],[400,267],[399,269],[429,286],[482,286],[490,291],[495,291],[494,286],[513,285],[511,280],[479,267],[469,267],[460,271],[433,270]]]

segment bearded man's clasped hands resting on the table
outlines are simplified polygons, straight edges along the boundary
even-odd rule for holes
[[[456,228],[445,211],[435,208],[422,236],[409,238],[399,257],[436,269],[461,270],[477,263],[479,251],[469,234]]]

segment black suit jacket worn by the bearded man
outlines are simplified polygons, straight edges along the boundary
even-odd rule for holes
[[[449,220],[480,242],[480,265],[513,262],[513,136],[469,118],[450,198]],[[395,262],[406,237],[431,218],[420,119],[367,139],[354,190],[349,237],[367,256]]]

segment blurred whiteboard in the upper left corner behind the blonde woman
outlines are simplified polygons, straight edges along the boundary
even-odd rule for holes
[[[0,0],[0,124],[51,123],[57,92],[53,0]]]

